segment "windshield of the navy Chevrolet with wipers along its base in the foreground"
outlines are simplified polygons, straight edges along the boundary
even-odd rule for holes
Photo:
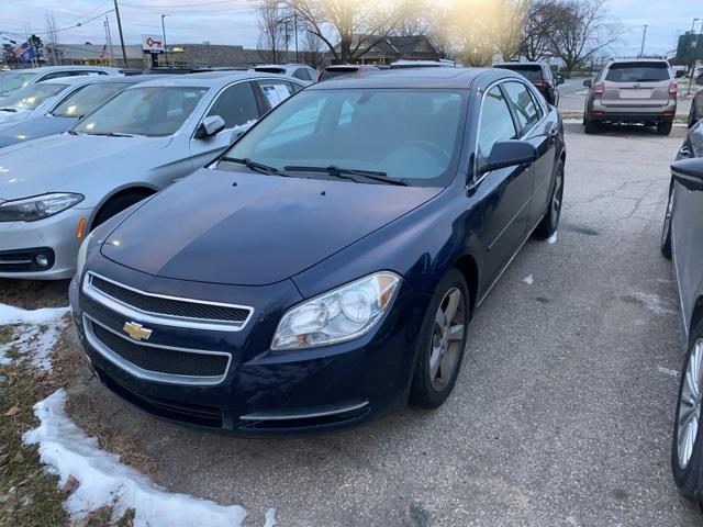
[[[446,186],[456,170],[466,101],[466,91],[445,89],[301,91],[223,159],[286,176],[369,171],[405,184]]]

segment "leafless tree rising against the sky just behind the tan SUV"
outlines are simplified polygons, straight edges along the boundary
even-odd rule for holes
[[[559,2],[547,40],[550,54],[563,60],[567,75],[620,38],[622,27],[607,16],[607,0]]]

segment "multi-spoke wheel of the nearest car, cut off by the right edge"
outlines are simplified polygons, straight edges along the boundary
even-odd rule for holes
[[[700,489],[702,451],[701,404],[703,390],[703,321],[691,332],[691,344],[685,354],[679,399],[673,423],[671,470],[681,493],[694,497]],[[700,497],[699,497],[700,500]]]

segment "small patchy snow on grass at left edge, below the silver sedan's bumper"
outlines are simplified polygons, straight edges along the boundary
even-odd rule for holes
[[[44,370],[52,369],[49,352],[58,338],[65,323],[63,317],[68,307],[44,307],[27,311],[12,305],[0,304],[0,326],[15,324],[14,339],[0,345],[0,365],[10,359],[7,352],[15,348],[32,360],[32,366]]]

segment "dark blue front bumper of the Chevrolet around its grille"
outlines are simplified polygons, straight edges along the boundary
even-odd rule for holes
[[[109,267],[120,266],[110,262]],[[137,287],[136,282],[150,283],[153,289],[169,294],[179,287],[178,281],[136,271],[119,279],[111,274],[121,283],[130,277],[133,287]],[[330,431],[404,406],[415,361],[414,336],[427,299],[401,287],[389,313],[369,334],[338,345],[276,352],[268,345],[278,319],[288,306],[301,300],[292,282],[263,288],[196,285],[202,298],[210,292],[212,298],[217,290],[219,301],[223,295],[237,301],[244,296],[248,296],[247,301],[266,299],[250,303],[254,316],[238,332],[148,323],[153,345],[231,355],[224,378],[208,385],[140,378],[91,345],[86,322],[91,323],[87,317],[114,332],[122,332],[126,318],[96,303],[74,279],[69,296],[76,327],[92,370],[109,390],[156,417],[239,436]]]

